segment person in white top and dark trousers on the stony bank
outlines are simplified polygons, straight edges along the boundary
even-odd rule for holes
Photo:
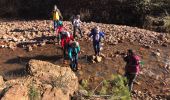
[[[81,35],[81,38],[83,37],[83,34],[81,32],[81,20],[80,20],[80,15],[77,15],[74,20],[73,20],[73,36],[74,38],[76,37],[76,31],[79,31],[79,34]]]

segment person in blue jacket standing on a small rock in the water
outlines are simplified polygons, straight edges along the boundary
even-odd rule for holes
[[[95,56],[100,55],[100,42],[101,38],[104,38],[104,32],[100,31],[100,28],[96,26],[91,30],[91,33],[89,34],[89,37],[93,38],[93,48],[95,51]]]

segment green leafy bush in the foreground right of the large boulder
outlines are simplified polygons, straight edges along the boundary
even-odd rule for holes
[[[94,90],[88,90],[89,98],[93,95],[108,96],[110,100],[130,100],[130,92],[125,85],[127,79],[121,75],[112,75],[111,79],[103,80]],[[88,80],[82,80],[79,89],[87,90]],[[93,92],[91,92],[93,91]]]

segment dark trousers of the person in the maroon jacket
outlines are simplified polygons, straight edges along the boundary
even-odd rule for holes
[[[137,74],[126,73],[125,77],[127,78],[129,91],[131,92],[133,88],[133,82],[135,81]]]

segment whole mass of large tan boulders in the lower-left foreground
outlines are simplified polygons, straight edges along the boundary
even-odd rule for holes
[[[4,89],[2,100],[70,100],[78,90],[78,78],[69,67],[30,60],[27,71],[31,75],[5,82],[6,87],[11,87]]]

